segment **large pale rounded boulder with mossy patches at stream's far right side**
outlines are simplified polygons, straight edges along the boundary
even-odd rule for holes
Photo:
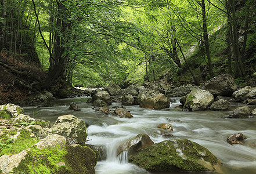
[[[183,108],[190,111],[206,110],[214,102],[214,96],[203,89],[192,90],[186,96],[186,102]]]

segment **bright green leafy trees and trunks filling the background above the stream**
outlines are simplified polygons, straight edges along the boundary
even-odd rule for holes
[[[186,72],[199,85],[223,71],[254,73],[255,13],[253,0],[2,0],[0,49],[48,71],[44,88]]]

